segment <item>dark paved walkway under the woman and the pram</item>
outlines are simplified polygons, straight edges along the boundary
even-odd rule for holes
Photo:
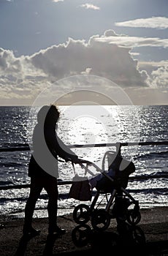
[[[167,208],[142,209],[140,223],[118,232],[116,221],[104,232],[91,229],[91,223],[81,227],[72,214],[58,217],[58,223],[66,228],[62,237],[48,236],[47,218],[34,219],[34,227],[41,230],[39,236],[26,239],[22,236],[23,219],[1,220],[0,255],[168,255]]]

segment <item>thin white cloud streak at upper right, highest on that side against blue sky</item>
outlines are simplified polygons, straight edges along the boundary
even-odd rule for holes
[[[133,28],[168,29],[167,17],[140,18],[115,22],[115,26],[127,26]]]

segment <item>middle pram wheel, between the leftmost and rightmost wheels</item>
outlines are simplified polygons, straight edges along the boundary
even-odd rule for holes
[[[93,211],[91,225],[94,230],[107,230],[107,228],[110,226],[110,214],[104,209]]]

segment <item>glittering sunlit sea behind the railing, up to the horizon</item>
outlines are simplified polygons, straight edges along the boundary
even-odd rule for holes
[[[72,105],[58,108],[61,113],[58,135],[75,154],[102,170],[104,154],[116,151],[110,143],[128,143],[128,146],[121,146],[121,155],[134,162],[136,170],[131,176],[142,178],[130,179],[126,189],[139,200],[140,208],[168,206],[168,105]],[[0,148],[20,148],[20,151],[0,151],[1,216],[24,216],[29,188],[21,188],[21,185],[30,183],[28,161],[31,151],[22,151],[22,147],[27,144],[31,147],[38,110],[31,106],[0,107]],[[142,143],[144,145],[140,145]],[[69,162],[59,162],[58,165],[59,181],[72,181],[75,173],[88,178],[91,178],[91,173],[99,174],[93,167],[87,172],[75,165],[74,172]],[[12,185],[20,185],[20,188],[3,189]],[[70,184],[58,186],[58,215],[72,212],[81,203],[69,198],[69,188]],[[45,190],[37,200],[34,217],[47,217]]]

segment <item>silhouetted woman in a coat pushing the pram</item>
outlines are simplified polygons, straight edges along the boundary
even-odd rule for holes
[[[64,234],[66,230],[57,225],[58,210],[58,157],[66,162],[80,162],[56,133],[60,113],[55,105],[43,106],[37,114],[37,125],[33,134],[33,152],[28,165],[28,176],[31,178],[30,193],[26,202],[23,235],[36,236],[40,233],[32,227],[34,208],[42,189],[48,195],[48,233]]]

